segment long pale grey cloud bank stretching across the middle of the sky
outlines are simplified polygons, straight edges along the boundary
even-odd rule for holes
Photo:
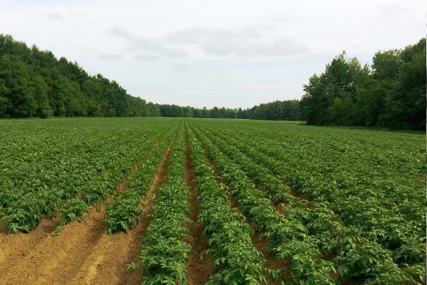
[[[251,25],[236,30],[211,27],[191,27],[167,33],[158,38],[136,36],[126,28],[113,27],[109,32],[127,42],[129,51],[142,51],[139,59],[157,60],[186,58],[191,47],[206,56],[277,57],[307,53],[310,48],[290,37],[267,38],[275,30],[272,25]],[[149,56],[147,56],[149,55]]]

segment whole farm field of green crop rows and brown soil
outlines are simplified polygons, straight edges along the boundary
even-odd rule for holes
[[[426,135],[0,120],[0,284],[426,284]]]

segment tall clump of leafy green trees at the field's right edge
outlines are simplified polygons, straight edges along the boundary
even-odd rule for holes
[[[309,124],[425,130],[426,38],[376,52],[371,66],[343,52],[304,90],[301,119]]]

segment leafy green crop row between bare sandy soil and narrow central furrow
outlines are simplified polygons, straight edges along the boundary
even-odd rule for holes
[[[171,148],[166,182],[152,199],[151,223],[139,246],[142,284],[187,284],[186,264],[191,239],[186,222],[189,218],[189,187],[184,180],[184,140],[182,128]]]

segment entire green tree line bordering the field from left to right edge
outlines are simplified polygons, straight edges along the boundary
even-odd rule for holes
[[[305,120],[312,125],[426,128],[426,38],[378,51],[371,66],[342,52],[303,86],[301,100],[252,108],[159,105],[133,97],[116,81],[78,63],[0,34],[0,118],[164,116]]]

